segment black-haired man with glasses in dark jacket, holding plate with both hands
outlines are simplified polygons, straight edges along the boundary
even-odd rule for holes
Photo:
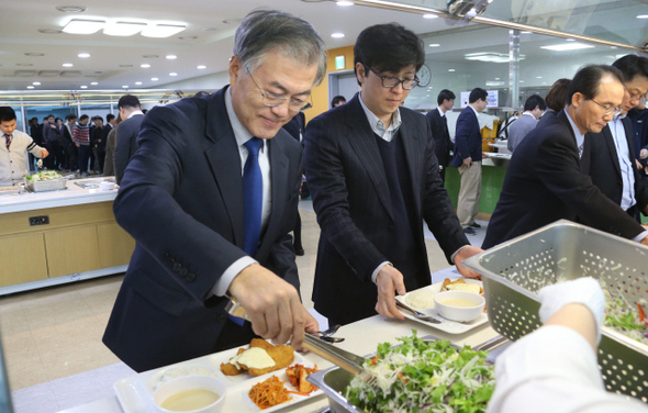
[[[429,124],[401,107],[425,62],[423,42],[396,23],[365,29],[354,46],[361,91],[311,120],[304,169],[321,227],[313,301],[328,324],[376,313],[404,319],[394,291],[432,282],[423,233],[434,233],[449,264],[470,246],[439,177]]]

